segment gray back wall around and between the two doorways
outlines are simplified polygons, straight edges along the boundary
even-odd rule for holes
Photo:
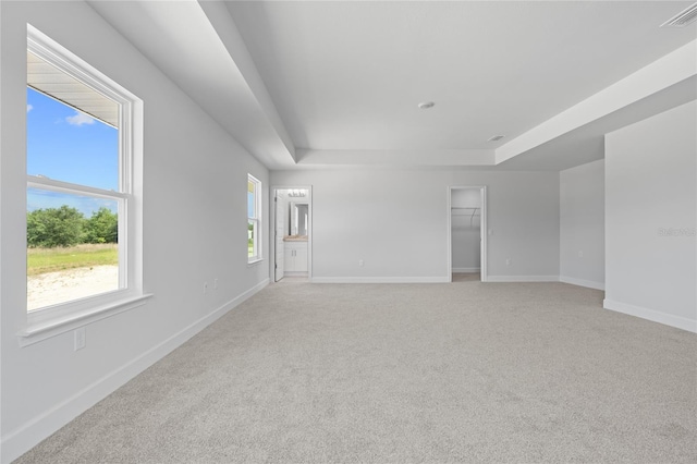
[[[491,280],[559,277],[557,172],[274,171],[271,183],[313,185],[316,281],[449,281],[449,187],[462,185],[488,186]]]

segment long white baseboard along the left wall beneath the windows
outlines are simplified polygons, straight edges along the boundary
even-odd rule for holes
[[[68,400],[57,404],[19,429],[2,437],[0,445],[2,455],[0,456],[0,462],[5,464],[20,457],[41,440],[46,439],[80,414],[113,393],[118,388],[184,344],[188,339],[218,320],[220,317],[224,316],[245,300],[258,293],[268,284],[269,279],[264,280],[230,302],[212,310],[208,315],[194,321],[181,331],[174,333],[161,343],[152,346],[150,350],[130,361],[125,365],[112,370],[110,374],[87,386]]]

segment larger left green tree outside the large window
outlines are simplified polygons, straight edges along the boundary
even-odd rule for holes
[[[77,245],[83,239],[84,222],[83,213],[66,205],[27,212],[27,245],[47,248]]]

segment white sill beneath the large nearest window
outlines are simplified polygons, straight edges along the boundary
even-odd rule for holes
[[[50,339],[51,337],[75,330],[78,327],[87,326],[88,323],[143,306],[151,296],[151,293],[130,296],[117,302],[110,302],[63,316],[57,316],[56,318],[44,320],[41,322],[30,323],[17,332],[20,346],[28,346]]]

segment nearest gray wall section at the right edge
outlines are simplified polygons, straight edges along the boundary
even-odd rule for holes
[[[606,136],[606,302],[697,331],[697,102]]]

